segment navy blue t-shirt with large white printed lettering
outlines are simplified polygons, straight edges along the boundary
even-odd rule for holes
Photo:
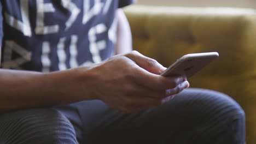
[[[132,0],[1,0],[1,68],[50,72],[114,54],[115,11]]]

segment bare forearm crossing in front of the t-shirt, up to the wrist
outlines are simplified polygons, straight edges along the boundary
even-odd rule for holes
[[[87,69],[90,67],[83,68],[84,77]],[[92,99],[90,94],[80,88],[82,85],[79,85],[79,73],[77,69],[48,74],[0,69],[0,111]]]

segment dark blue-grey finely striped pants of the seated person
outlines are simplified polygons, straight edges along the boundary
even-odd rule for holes
[[[0,116],[0,144],[245,144],[245,113],[225,94],[188,88],[160,107],[126,114],[100,100]]]

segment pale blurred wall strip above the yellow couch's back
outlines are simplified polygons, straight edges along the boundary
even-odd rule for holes
[[[181,7],[241,7],[255,8],[256,0],[137,0],[137,4]]]

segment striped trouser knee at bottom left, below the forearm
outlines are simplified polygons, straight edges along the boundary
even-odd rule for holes
[[[56,110],[22,110],[1,118],[4,143],[77,143],[72,124]]]

